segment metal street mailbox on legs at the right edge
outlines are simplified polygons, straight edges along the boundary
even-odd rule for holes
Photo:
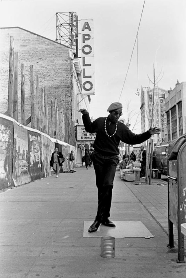
[[[178,229],[178,263],[184,261],[184,235],[181,224],[186,222],[186,134],[169,144],[167,160],[169,248],[174,247],[173,225]]]

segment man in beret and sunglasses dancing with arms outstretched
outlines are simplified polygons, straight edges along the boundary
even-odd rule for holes
[[[160,129],[156,127],[142,134],[132,133],[126,125],[118,121],[122,115],[121,103],[112,103],[107,111],[109,112],[107,117],[97,118],[91,122],[89,112],[86,109],[80,109],[85,130],[89,133],[96,133],[92,161],[98,189],[98,207],[95,220],[88,230],[90,233],[97,231],[100,224],[115,227],[115,224],[108,218],[110,217],[113,181],[119,162],[120,141],[135,145],[148,140],[152,134],[160,133]]]

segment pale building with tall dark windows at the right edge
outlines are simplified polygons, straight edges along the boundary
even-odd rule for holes
[[[186,133],[186,82],[177,81],[165,99],[168,142]]]

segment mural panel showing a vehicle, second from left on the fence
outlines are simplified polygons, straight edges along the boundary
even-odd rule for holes
[[[28,173],[28,131],[14,123],[13,173],[14,185],[30,182]]]

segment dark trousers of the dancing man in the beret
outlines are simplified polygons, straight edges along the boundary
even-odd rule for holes
[[[102,221],[110,217],[113,182],[118,163],[118,156],[102,156],[93,151],[92,162],[98,189],[98,207],[96,220]]]

